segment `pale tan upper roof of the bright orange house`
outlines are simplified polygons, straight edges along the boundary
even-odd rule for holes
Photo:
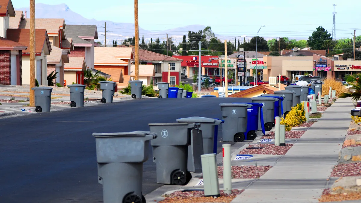
[[[118,58],[131,58],[132,48],[120,47],[94,47],[94,63],[95,64],[124,64],[128,62]]]

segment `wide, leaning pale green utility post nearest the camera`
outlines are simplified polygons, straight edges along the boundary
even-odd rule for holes
[[[201,155],[204,196],[219,197],[216,154]]]

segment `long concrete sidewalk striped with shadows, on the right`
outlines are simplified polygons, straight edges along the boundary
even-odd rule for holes
[[[244,187],[232,203],[318,202],[323,189],[335,181],[329,176],[337,164],[353,108],[350,99],[338,99],[273,168]]]

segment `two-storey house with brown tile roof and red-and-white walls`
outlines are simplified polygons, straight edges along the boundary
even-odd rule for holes
[[[133,55],[134,51],[133,49]],[[182,59],[139,49],[139,64],[154,65],[154,84],[157,82],[168,82],[168,69],[170,68],[170,85],[179,85],[181,81],[182,61]]]

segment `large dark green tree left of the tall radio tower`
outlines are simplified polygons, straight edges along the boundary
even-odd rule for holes
[[[322,26],[316,28],[316,31],[313,31],[312,35],[308,38],[308,46],[312,49],[320,50],[325,49],[325,41],[332,40],[331,34],[325,30]]]

